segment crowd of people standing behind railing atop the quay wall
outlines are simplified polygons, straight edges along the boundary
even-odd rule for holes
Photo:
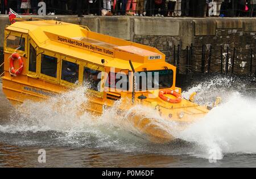
[[[47,14],[134,16],[255,16],[256,0],[40,0]],[[36,14],[39,0],[1,0],[1,14]]]

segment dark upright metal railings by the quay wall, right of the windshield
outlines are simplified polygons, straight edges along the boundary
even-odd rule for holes
[[[212,45],[174,46],[169,63],[177,67],[177,74],[236,74],[256,77],[256,50]]]

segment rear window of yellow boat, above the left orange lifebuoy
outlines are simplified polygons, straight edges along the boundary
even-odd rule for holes
[[[15,50],[25,51],[25,38],[22,36],[18,37],[14,35],[9,35],[6,39],[6,47]]]

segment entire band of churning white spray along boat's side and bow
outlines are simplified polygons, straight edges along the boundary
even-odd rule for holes
[[[177,124],[163,120],[154,110],[137,105],[120,114],[117,101],[112,108],[106,108],[101,116],[84,112],[77,115],[77,109],[88,102],[84,87],[34,103],[26,101],[19,106],[22,112],[11,116],[11,121],[0,125],[2,140],[16,144],[42,144],[76,146],[121,150],[124,152],[144,152],[165,155],[188,154],[197,157],[222,159],[227,153],[256,153],[256,101],[246,98],[237,89],[235,79],[214,78],[197,84],[183,96],[197,91],[196,102],[211,103],[222,94],[222,104],[212,109],[201,121],[193,123],[182,132],[177,132]],[[241,87],[241,85],[240,85]],[[243,86],[242,86],[243,88]],[[228,89],[228,90],[227,90]],[[223,91],[223,93],[221,93]],[[155,144],[141,134],[131,122],[133,112],[143,113],[177,138],[179,142]]]

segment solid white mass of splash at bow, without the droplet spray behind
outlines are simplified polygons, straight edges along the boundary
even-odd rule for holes
[[[229,100],[212,109],[203,120],[193,123],[179,134],[181,139],[195,142],[195,155],[222,159],[226,153],[256,154],[256,103],[233,93]]]

